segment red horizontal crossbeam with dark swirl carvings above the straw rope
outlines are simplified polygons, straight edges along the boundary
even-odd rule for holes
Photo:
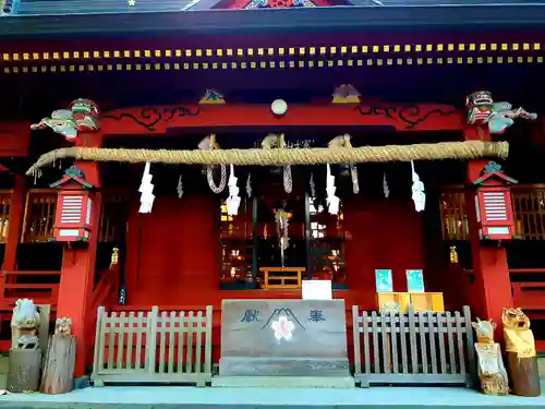
[[[101,117],[105,135],[164,134],[174,128],[389,127],[397,131],[457,131],[464,113],[448,105],[292,105],[282,117],[268,105],[201,105],[114,110]]]

